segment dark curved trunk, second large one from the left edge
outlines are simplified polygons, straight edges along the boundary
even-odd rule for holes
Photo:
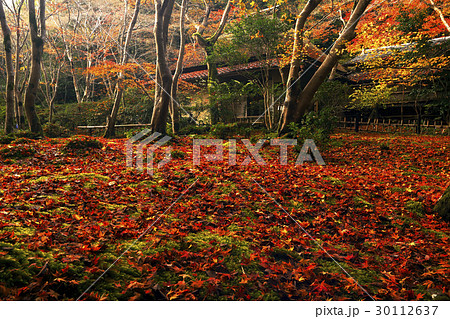
[[[41,78],[41,59],[45,43],[45,0],[39,0],[40,32],[36,18],[34,0],[28,1],[28,14],[31,35],[31,72],[25,92],[25,113],[31,132],[42,134],[42,126],[36,113],[36,94]]]

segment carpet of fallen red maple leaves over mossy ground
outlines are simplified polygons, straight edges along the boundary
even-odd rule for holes
[[[126,167],[125,140],[101,141],[0,158],[0,299],[449,298],[449,225],[431,212],[449,137],[339,133],[326,166],[292,149],[281,166],[275,146],[265,166],[194,166],[182,138],[153,176]]]

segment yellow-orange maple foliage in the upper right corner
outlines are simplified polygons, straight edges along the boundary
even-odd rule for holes
[[[400,1],[389,7],[389,15],[384,10],[369,12],[361,22],[364,31],[349,46],[352,53],[363,48],[358,67],[366,78],[403,92],[402,99],[414,102],[418,133],[423,114],[431,109],[443,120],[450,118],[444,102],[448,100],[449,59],[442,36],[447,30],[429,4]],[[436,97],[435,102],[424,105],[430,96]],[[403,121],[403,106],[401,112]]]

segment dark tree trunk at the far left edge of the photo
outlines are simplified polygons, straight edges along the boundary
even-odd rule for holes
[[[5,133],[9,134],[14,129],[14,68],[12,61],[11,29],[6,22],[3,3],[0,1],[0,24],[3,32],[3,44],[5,46],[6,59],[6,118]]]

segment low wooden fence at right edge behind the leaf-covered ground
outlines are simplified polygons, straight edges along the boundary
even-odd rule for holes
[[[367,132],[417,133],[417,120],[375,119],[357,121],[356,118],[342,118],[338,128]],[[450,135],[450,124],[442,121],[424,120],[420,124],[420,134]]]

